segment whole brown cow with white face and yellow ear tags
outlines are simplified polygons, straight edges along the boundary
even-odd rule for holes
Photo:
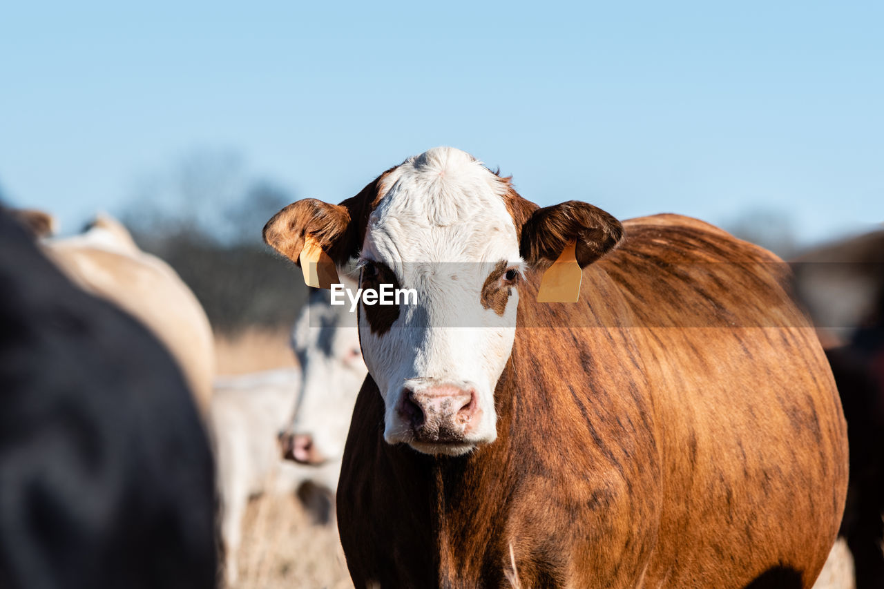
[[[847,438],[778,258],[691,218],[537,208],[448,148],[264,229],[293,260],[305,236],[418,293],[360,308],[338,493],[357,587],[812,585]],[[536,302],[571,240],[579,302]]]

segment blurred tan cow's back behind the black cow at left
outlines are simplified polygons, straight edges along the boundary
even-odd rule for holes
[[[179,364],[203,415],[215,376],[209,318],[169,264],[147,254],[116,219],[100,215],[88,230],[42,241],[43,251],[84,290],[146,325]]]

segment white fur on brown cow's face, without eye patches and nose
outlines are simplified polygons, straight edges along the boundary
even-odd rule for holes
[[[362,258],[387,264],[416,305],[400,306],[388,333],[377,336],[362,308],[362,354],[385,402],[385,440],[426,453],[462,454],[497,438],[494,388],[509,358],[518,294],[503,316],[480,302],[500,260],[521,266],[507,187],[469,154],[430,149],[384,180],[369,219]],[[415,444],[395,410],[407,379],[464,382],[476,388],[481,419],[462,447]]]

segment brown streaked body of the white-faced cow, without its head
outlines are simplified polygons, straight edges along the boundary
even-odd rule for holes
[[[624,227],[580,302],[526,280],[491,444],[385,443],[365,380],[338,493],[357,587],[812,585],[848,449],[788,268],[694,219]]]

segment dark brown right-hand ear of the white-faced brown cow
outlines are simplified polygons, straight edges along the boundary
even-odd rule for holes
[[[520,253],[531,265],[552,264],[576,241],[577,264],[585,268],[623,238],[620,221],[589,203],[568,201],[535,210],[522,226]]]

